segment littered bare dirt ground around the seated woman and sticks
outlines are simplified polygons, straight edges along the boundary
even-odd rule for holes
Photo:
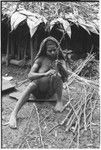
[[[29,68],[19,68],[10,65],[2,65],[2,75],[13,76],[14,81],[22,81],[27,78]],[[27,84],[20,86],[24,90]],[[70,88],[70,97],[77,101],[79,98],[79,86],[73,82]],[[8,125],[10,114],[16,105],[16,100],[9,97],[12,91],[2,93],[2,148],[99,148],[100,147],[100,100],[95,92],[94,101],[97,100],[93,111],[92,125],[84,130],[79,130],[79,146],[77,131],[72,132],[67,124],[58,126],[62,122],[70,108],[62,113],[54,111],[55,102],[27,102],[18,113],[18,128],[11,129]],[[63,103],[68,102],[68,92],[63,90]],[[74,103],[72,101],[72,103]],[[54,128],[55,127],[55,128]],[[52,130],[51,130],[52,129]]]

